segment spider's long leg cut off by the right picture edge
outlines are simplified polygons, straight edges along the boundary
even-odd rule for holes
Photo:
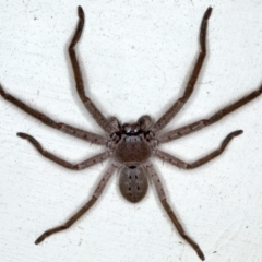
[[[248,104],[249,102],[253,100],[254,98],[257,98],[261,94],[262,94],[262,85],[258,90],[255,90],[255,91],[251,92],[250,94],[243,96],[239,100],[237,100],[237,102],[233,103],[231,105],[226,106],[226,107],[222,108],[221,110],[216,111],[212,117],[210,117],[207,119],[202,119],[202,120],[195,121],[193,123],[190,123],[186,127],[182,127],[182,128],[179,128],[179,129],[176,129],[176,130],[172,130],[170,132],[159,134],[158,140],[159,140],[160,143],[166,143],[168,141],[180,139],[183,135],[193,133],[198,130],[201,130],[205,127],[209,127],[210,124],[219,121],[222,118],[224,118],[228,114],[235,111],[239,107],[241,107],[241,106]]]

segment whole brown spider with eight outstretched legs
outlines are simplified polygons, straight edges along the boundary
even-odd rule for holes
[[[190,95],[193,92],[194,84],[198,80],[201,67],[203,64],[203,61],[206,55],[206,46],[205,46],[206,28],[207,28],[207,21],[211,16],[211,12],[212,12],[212,8],[209,8],[205,11],[204,16],[202,19],[201,28],[200,28],[200,53],[195,62],[195,66],[193,68],[193,72],[186,86],[183,95],[177,102],[175,102],[175,104],[155,123],[153,123],[150,116],[143,116],[134,123],[120,124],[118,119],[115,117],[110,119],[105,118],[104,115],[98,110],[98,108],[91,100],[91,98],[85,95],[82,73],[81,73],[81,69],[80,69],[75,50],[74,50],[74,47],[81,37],[83,26],[84,26],[84,11],[81,7],[79,7],[78,9],[79,23],[78,23],[78,27],[73,36],[73,39],[69,46],[69,55],[70,55],[70,59],[71,59],[71,63],[74,72],[78,94],[81,100],[83,102],[83,104],[85,105],[86,109],[88,110],[88,112],[93,116],[93,118],[102,127],[102,129],[107,133],[107,135],[104,136],[104,135],[95,134],[88,131],[76,129],[74,127],[71,127],[62,122],[56,122],[49,117],[47,117],[46,115],[25,105],[19,98],[15,98],[14,96],[5,93],[2,86],[0,85],[0,94],[4,99],[17,106],[28,115],[39,119],[45,124],[53,129],[58,129],[64,133],[76,136],[79,139],[106,146],[106,151],[104,153],[97,154],[82,163],[73,165],[49,153],[48,151],[44,150],[43,146],[38,143],[38,141],[35,140],[32,135],[26,133],[17,133],[20,138],[26,139],[28,142],[31,142],[32,145],[35,146],[35,148],[43,156],[49,158],[50,160],[66,168],[73,169],[73,170],[81,170],[90,166],[93,166],[97,163],[100,163],[103,160],[106,160],[109,157],[112,158],[110,166],[106,170],[105,175],[102,177],[98,186],[96,187],[88,202],[83,207],[81,207],[76,212],[76,214],[74,214],[70,219],[68,219],[62,226],[57,226],[41,234],[36,239],[35,241],[36,245],[45,240],[50,235],[69,228],[84,213],[86,213],[90,210],[90,207],[96,202],[96,200],[99,198],[99,195],[102,194],[104,188],[106,187],[108,180],[114,175],[114,172],[118,168],[120,168],[119,187],[122,195],[128,201],[133,203],[141,201],[147,191],[147,176],[150,176],[156,188],[160,202],[164,209],[166,210],[168,216],[170,217],[171,222],[174,223],[175,227],[177,228],[178,233],[195,250],[199,258],[201,260],[204,260],[204,254],[200,249],[199,245],[186,234],[181,224],[177,219],[174,211],[168,204],[160,179],[150,158],[152,156],[155,156],[179,168],[184,168],[184,169],[192,169],[210,162],[211,159],[221,155],[226,148],[226,146],[228,145],[228,143],[235,136],[242,133],[242,130],[237,130],[229,133],[221,143],[221,146],[217,150],[213,151],[205,157],[202,157],[191,164],[188,164],[183,160],[176,158],[172,155],[169,155],[160,150],[157,150],[157,146],[162,143],[180,139],[184,135],[199,131],[202,128],[205,128],[212,123],[215,123],[226,115],[230,114],[231,111],[238,109],[239,107],[243,106],[245,104],[260,96],[262,93],[262,86],[260,86],[259,90],[253,91],[250,94],[246,95],[245,97],[240,98],[239,100],[233,103],[231,105],[224,107],[223,109],[215,112],[209,119],[202,119],[202,120],[192,122],[186,127],[175,129],[166,133],[160,133],[162,129],[165,128],[166,124],[168,124],[168,122],[176,116],[176,114],[181,109],[181,107],[189,99]]]

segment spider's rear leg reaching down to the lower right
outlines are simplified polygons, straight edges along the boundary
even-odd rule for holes
[[[171,210],[170,205],[168,204],[167,200],[166,200],[166,195],[165,195],[165,191],[163,189],[160,179],[154,168],[154,166],[152,165],[152,163],[147,162],[145,165],[145,168],[147,169],[154,184],[157,191],[157,194],[159,196],[159,200],[165,209],[165,211],[167,212],[168,216],[170,217],[172,224],[175,225],[175,227],[177,228],[179,235],[195,250],[195,252],[198,253],[198,255],[200,257],[201,260],[204,260],[204,254],[202,252],[202,250],[200,249],[199,245],[193,241],[184,231],[184,229],[182,228],[181,224],[179,223],[176,214],[174,213],[174,211]]]

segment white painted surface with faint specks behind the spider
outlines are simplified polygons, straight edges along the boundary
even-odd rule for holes
[[[159,117],[182,93],[198,52],[202,15],[214,8],[209,56],[187,106],[166,130],[204,118],[262,83],[261,1],[78,1],[86,14],[79,56],[87,93],[106,116]],[[67,46],[74,1],[0,1],[0,81],[59,121],[103,133],[74,90]],[[187,231],[211,262],[262,261],[262,97],[219,123],[163,146],[187,160],[243,129],[223,156],[183,171],[155,162]],[[15,133],[28,132],[72,162],[100,148],[45,127],[0,98],[0,258],[3,262],[191,262],[154,190],[132,205],[117,176],[71,229],[34,240],[72,215],[108,163],[81,172],[39,156]]]

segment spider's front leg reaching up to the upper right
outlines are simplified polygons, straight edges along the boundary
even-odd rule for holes
[[[169,121],[177,115],[177,112],[181,109],[181,107],[184,105],[184,103],[189,99],[191,96],[195,82],[198,80],[200,70],[202,68],[202,64],[204,62],[204,58],[206,55],[206,28],[207,28],[207,21],[211,16],[212,8],[209,8],[203,16],[202,23],[201,23],[201,29],[200,29],[200,53],[198,57],[198,60],[194,64],[193,72],[189,79],[189,82],[186,86],[186,90],[183,92],[183,96],[180,97],[154,124],[153,132],[157,133],[159,130],[162,130]]]

